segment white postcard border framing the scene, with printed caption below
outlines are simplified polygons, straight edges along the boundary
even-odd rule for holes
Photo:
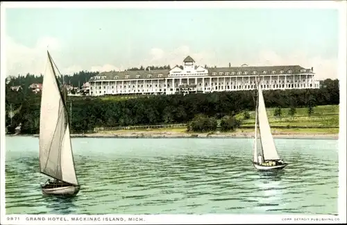
[[[158,1],[158,2],[1,2],[1,82],[0,82],[0,162],[1,162],[1,224],[252,224],[252,223],[346,223],[346,1]],[[76,215],[78,218],[95,218],[96,222],[71,222],[74,215],[10,215],[5,211],[5,8],[335,8],[340,12],[339,36],[339,216],[332,215]],[[341,116],[342,115],[342,116]],[[49,218],[56,218],[55,221]],[[139,222],[106,222],[104,218],[142,218]],[[11,219],[8,220],[8,219]],[[41,221],[30,220],[41,218]],[[100,219],[97,221],[97,219]],[[44,219],[44,220],[43,220]],[[60,221],[68,219],[69,222]],[[328,220],[327,220],[328,219]]]

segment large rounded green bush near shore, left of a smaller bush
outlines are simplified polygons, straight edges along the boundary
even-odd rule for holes
[[[217,119],[205,115],[196,115],[187,126],[187,131],[194,132],[216,131],[216,129]]]

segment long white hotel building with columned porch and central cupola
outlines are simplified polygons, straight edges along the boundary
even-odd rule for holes
[[[319,88],[313,68],[305,69],[299,65],[204,68],[196,66],[187,56],[183,60],[183,69],[101,72],[90,78],[90,95],[253,90],[258,76],[264,90]]]

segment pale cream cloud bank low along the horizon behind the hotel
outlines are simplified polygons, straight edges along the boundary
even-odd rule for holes
[[[46,67],[46,49],[49,47],[50,51],[54,52],[53,58],[59,60],[63,57],[62,50],[64,47],[59,40],[52,37],[42,37],[37,40],[35,46],[27,47],[24,44],[19,44],[12,40],[10,37],[6,37],[6,76],[17,74],[44,74]],[[194,51],[187,45],[176,47],[176,49],[170,49],[165,51],[158,47],[150,49],[147,56],[144,56],[144,60],[139,62],[139,65],[62,65],[58,63],[59,70],[62,74],[74,74],[82,70],[93,72],[107,72],[111,70],[119,71],[124,70],[127,67],[147,66],[147,65],[182,65],[185,57],[191,56],[196,65],[205,64],[213,67],[228,67],[228,63],[232,66],[239,66],[243,63],[248,65],[262,66],[262,65],[301,65],[305,68],[314,67],[316,73],[316,79],[324,78],[338,78],[337,74],[337,58],[323,58],[322,56],[311,56],[303,51],[293,51],[283,56],[276,51],[264,50],[259,53],[255,53],[253,59],[236,57],[232,52],[223,53],[223,55],[217,56],[214,51]],[[65,56],[64,56],[65,57]],[[57,60],[57,61],[58,61]],[[71,63],[71,60],[66,60]]]

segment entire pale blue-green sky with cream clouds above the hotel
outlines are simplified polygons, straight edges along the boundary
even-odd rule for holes
[[[332,8],[7,8],[6,76],[140,65],[301,65],[337,78]]]

